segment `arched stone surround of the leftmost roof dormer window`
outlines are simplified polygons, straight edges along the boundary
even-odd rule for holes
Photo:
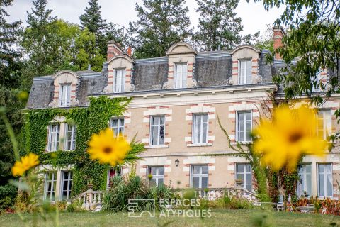
[[[62,84],[71,84],[71,99],[69,106],[79,105],[79,100],[77,99],[77,89],[80,77],[77,74],[70,70],[62,70],[57,72],[52,79],[55,89],[53,92],[53,100],[48,105],[49,107],[60,107],[60,89]]]

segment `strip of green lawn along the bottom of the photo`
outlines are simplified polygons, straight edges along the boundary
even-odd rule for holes
[[[287,212],[264,213],[254,210],[212,210],[210,218],[188,218],[188,217],[171,217],[171,218],[129,218],[128,213],[60,213],[60,226],[157,226],[168,221],[174,221],[169,226],[252,226],[251,220],[254,216],[268,214],[268,221],[271,226],[329,226],[331,222],[340,226],[339,216],[328,216],[321,214],[292,214]],[[54,214],[53,214],[54,215]],[[28,221],[28,226],[33,226],[33,214],[24,214]],[[43,221],[42,218],[36,217],[36,226],[54,226],[52,216]],[[0,226],[19,227],[25,226],[17,214],[6,214],[0,216]]]

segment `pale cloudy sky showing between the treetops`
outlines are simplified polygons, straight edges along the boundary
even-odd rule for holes
[[[113,22],[128,27],[129,21],[137,19],[135,4],[142,4],[142,0],[98,0],[101,7],[102,17],[106,22]],[[196,0],[186,0],[189,8],[188,16],[191,18],[191,25],[197,28],[199,14],[196,13]],[[14,0],[13,5],[6,10],[9,13],[8,21],[23,21],[26,26],[26,11],[31,11],[33,6],[31,0]],[[72,23],[79,23],[79,16],[84,13],[84,9],[88,6],[88,0],[49,0],[48,8],[52,9],[52,15],[64,19]],[[240,0],[237,6],[237,16],[242,18],[244,26],[243,35],[254,34],[257,31],[263,33],[266,31],[266,24],[273,24],[276,18],[280,16],[285,8],[271,9],[266,11],[263,9],[262,2],[254,2],[250,0]]]

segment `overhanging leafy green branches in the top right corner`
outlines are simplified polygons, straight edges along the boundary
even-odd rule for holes
[[[307,94],[316,104],[322,104],[340,92],[340,2],[297,0],[285,4],[287,7],[276,20],[276,26],[287,26],[289,31],[283,38],[283,46],[275,52],[286,67],[275,81],[283,84],[287,98]],[[280,2],[264,0],[263,6],[269,10],[280,6]],[[273,61],[273,57],[269,60]],[[324,69],[328,74],[327,84],[320,82],[319,74]],[[314,92],[315,88],[320,92]],[[336,111],[338,117],[339,113]]]

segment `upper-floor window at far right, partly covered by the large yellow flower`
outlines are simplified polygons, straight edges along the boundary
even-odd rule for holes
[[[331,110],[320,109],[317,115],[317,134],[326,140],[331,135]]]

